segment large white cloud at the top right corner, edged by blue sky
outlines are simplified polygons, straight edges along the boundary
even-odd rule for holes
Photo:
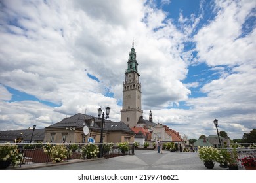
[[[220,10],[215,20],[194,36],[200,60],[211,66],[240,65],[255,60],[255,29],[240,37],[242,24],[256,6],[255,1],[217,1],[217,6]]]

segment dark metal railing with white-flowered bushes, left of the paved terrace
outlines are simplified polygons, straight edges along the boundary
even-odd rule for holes
[[[107,144],[107,143],[106,143]],[[104,149],[103,144],[103,157],[112,158],[116,156],[133,155],[135,147],[133,144],[128,144],[129,148],[123,152],[118,144],[111,144],[111,148]],[[100,147],[100,144],[95,144]],[[20,157],[18,165],[30,165],[35,163],[49,163],[58,161],[70,161],[72,159],[85,159],[81,158],[82,148],[85,144],[74,144],[74,143],[35,143],[35,144],[16,144],[16,143],[5,143],[0,144],[0,153],[4,154],[3,149],[6,146],[16,146],[17,157]],[[109,146],[108,146],[109,147]],[[99,153],[98,153],[99,154]],[[7,156],[7,155],[4,155]],[[8,157],[8,156],[7,156]],[[1,157],[0,157],[1,158]],[[99,156],[98,156],[99,158]],[[11,159],[10,159],[11,161]],[[1,161],[0,161],[1,163]],[[1,169],[1,168],[0,168]]]

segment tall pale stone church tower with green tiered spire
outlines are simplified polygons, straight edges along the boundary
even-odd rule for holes
[[[134,127],[137,126],[137,122],[142,114],[140,75],[135,48],[132,47],[127,62],[127,70],[125,71],[125,81],[123,82],[121,121],[129,127]]]

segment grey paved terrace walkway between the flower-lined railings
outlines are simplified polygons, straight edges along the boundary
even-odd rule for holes
[[[79,162],[79,163],[78,163]],[[81,159],[62,163],[22,165],[20,169],[36,170],[209,170],[193,152],[169,152],[158,154],[156,150],[135,150],[135,155],[109,159]],[[215,163],[213,170],[227,170]]]

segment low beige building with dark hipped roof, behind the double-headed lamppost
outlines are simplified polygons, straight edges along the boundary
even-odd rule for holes
[[[101,124],[100,118],[78,113],[46,127],[44,142],[87,143],[89,137],[93,137],[95,143],[99,143]],[[83,133],[84,126],[88,127],[88,134]],[[134,135],[135,133],[123,122],[104,120],[103,142],[133,142]]]

